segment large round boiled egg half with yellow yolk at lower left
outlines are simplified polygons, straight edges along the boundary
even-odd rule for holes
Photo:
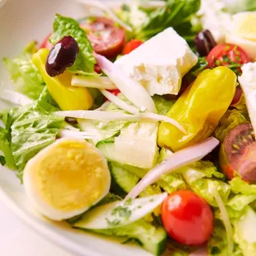
[[[43,216],[66,220],[107,195],[111,175],[100,151],[85,140],[59,139],[24,170],[27,197]]]

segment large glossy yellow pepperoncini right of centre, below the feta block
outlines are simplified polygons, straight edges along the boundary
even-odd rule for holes
[[[159,146],[176,151],[209,137],[230,107],[235,88],[236,75],[231,69],[204,70],[167,113],[187,130],[187,134],[163,122],[159,126]]]

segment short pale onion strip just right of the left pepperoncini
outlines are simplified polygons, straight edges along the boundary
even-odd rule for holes
[[[71,80],[71,85],[75,87],[85,87],[85,88],[97,88],[106,90],[115,90],[116,85],[111,82],[110,78],[107,77],[83,77],[73,75]]]

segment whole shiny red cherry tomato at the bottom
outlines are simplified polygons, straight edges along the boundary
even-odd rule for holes
[[[210,206],[191,191],[174,192],[165,199],[162,222],[169,236],[187,245],[205,243],[213,230]]]

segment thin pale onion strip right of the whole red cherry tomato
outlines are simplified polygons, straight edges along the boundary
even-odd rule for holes
[[[220,209],[220,216],[221,216],[221,219],[225,226],[229,255],[232,255],[233,254],[233,239],[232,239],[233,238],[233,229],[232,229],[232,225],[230,222],[230,218],[225,209],[224,202],[222,201],[219,193],[216,191],[216,189],[212,189],[212,193],[213,193],[213,195],[216,199],[216,203]]]

